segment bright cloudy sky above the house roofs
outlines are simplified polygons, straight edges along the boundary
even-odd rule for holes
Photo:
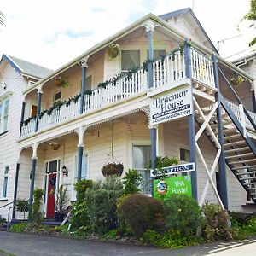
[[[2,0],[0,55],[56,69],[143,15],[187,7],[217,49],[218,41],[241,35],[220,44],[224,57],[246,50],[255,36],[248,22],[240,22],[250,0]]]

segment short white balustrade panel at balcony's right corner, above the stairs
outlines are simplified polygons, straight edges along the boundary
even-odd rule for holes
[[[215,87],[212,60],[193,48],[191,48],[191,69],[193,79]]]

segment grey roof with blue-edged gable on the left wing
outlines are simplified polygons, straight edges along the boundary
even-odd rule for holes
[[[15,71],[17,71],[21,75],[27,75],[37,79],[43,79],[47,77],[50,73],[53,73],[53,70],[47,67],[42,67],[29,61],[23,61],[14,56],[3,55],[0,64],[3,60],[7,61],[12,67],[15,68]]]

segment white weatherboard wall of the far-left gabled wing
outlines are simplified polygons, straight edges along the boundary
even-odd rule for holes
[[[9,92],[9,116],[8,116],[8,132],[0,135],[0,197],[3,192],[3,172],[4,167],[9,166],[8,187],[7,187],[7,199],[8,201],[0,200],[0,207],[13,201],[13,192],[15,184],[15,171],[16,163],[18,160],[18,146],[16,138],[19,137],[20,131],[20,111],[22,102],[23,84],[25,80],[15,72],[15,69],[11,67],[6,61],[3,61],[1,66],[0,83],[6,83],[7,88],[3,90],[3,85],[0,86],[0,99],[4,93]],[[0,209],[0,215],[7,217],[9,207],[3,207]]]

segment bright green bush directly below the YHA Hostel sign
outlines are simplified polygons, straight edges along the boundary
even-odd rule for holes
[[[195,235],[202,221],[197,201],[188,195],[172,195],[164,204],[167,228],[179,231],[182,236]]]

